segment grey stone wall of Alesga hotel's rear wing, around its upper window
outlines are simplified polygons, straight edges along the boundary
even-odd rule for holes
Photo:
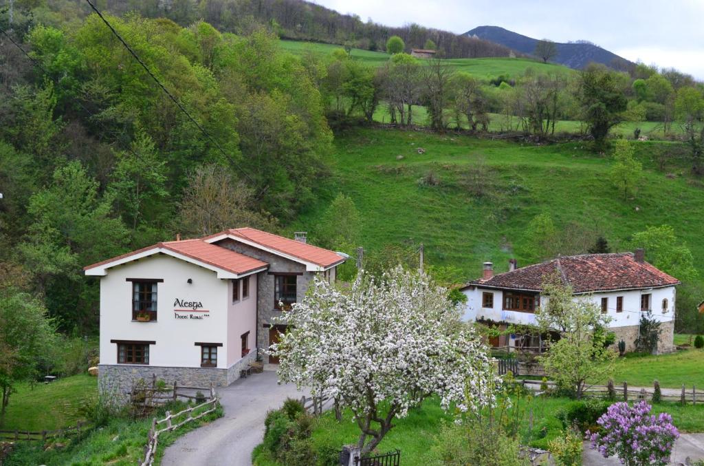
[[[300,302],[303,300],[303,296],[306,295],[310,281],[315,278],[316,273],[306,271],[305,265],[294,262],[291,259],[286,259],[234,240],[226,239],[216,244],[249,257],[255,257],[269,264],[269,269],[260,272],[257,276],[257,350],[263,358],[263,362],[268,363],[269,357],[265,350],[269,348],[270,344],[269,328],[271,325],[285,323],[285,321],[275,321],[275,319],[282,317],[284,313],[274,308],[273,274],[276,272],[301,274],[296,276],[296,301]]]

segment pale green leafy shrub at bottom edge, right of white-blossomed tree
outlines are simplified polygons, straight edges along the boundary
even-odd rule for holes
[[[524,466],[517,439],[506,436],[496,425],[470,422],[446,423],[429,453],[431,465]]]

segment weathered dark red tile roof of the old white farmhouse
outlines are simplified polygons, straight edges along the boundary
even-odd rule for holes
[[[574,293],[657,288],[680,283],[648,262],[636,262],[631,252],[565,256],[540,264],[508,271],[486,280],[470,281],[467,286],[491,286],[516,290],[542,290],[543,277],[559,271],[562,281],[570,284]]]

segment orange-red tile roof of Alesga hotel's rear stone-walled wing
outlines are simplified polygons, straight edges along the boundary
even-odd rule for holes
[[[297,257],[298,259],[312,262],[322,267],[329,267],[344,261],[344,257],[330,250],[260,231],[256,228],[232,228],[218,233],[217,235],[210,235],[210,238],[223,234],[229,234],[235,238],[248,240],[268,249],[282,252],[283,254]]]

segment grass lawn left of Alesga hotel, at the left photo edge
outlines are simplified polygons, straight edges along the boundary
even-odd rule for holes
[[[75,424],[86,398],[96,396],[98,380],[89,375],[56,379],[51,384],[19,384],[10,396],[4,430],[54,430]]]

